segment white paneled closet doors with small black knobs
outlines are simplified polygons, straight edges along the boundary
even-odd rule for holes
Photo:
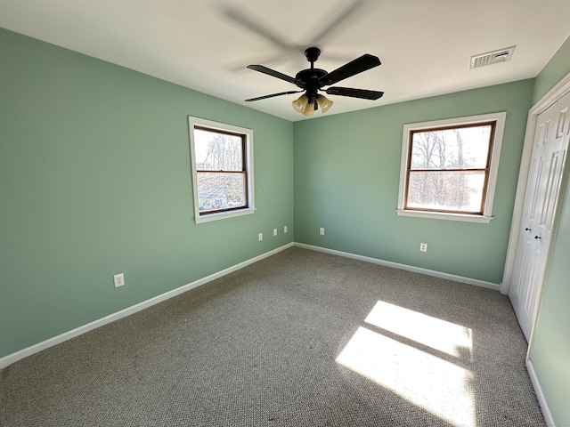
[[[530,339],[550,247],[568,138],[570,94],[543,111],[536,124],[533,154],[509,298]]]

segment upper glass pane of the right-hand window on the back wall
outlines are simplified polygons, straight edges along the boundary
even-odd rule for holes
[[[492,125],[411,133],[411,170],[480,169],[487,165]]]

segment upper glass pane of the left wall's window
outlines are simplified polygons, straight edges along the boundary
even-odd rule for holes
[[[243,143],[239,135],[194,129],[196,169],[242,171]]]

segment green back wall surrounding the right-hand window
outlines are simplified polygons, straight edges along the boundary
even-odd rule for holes
[[[297,122],[295,240],[499,284],[532,95],[523,80]],[[397,216],[403,125],[497,111],[507,122],[492,222]]]

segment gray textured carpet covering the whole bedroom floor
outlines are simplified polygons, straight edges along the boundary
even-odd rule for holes
[[[293,247],[0,371],[0,424],[543,426],[492,290]]]

